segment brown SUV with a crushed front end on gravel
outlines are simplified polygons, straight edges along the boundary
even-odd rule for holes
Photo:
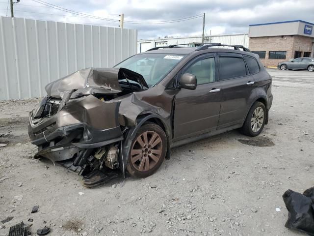
[[[48,84],[29,114],[35,158],[60,163],[92,186],[116,168],[150,176],[170,148],[215,134],[240,128],[259,135],[272,104],[271,76],[247,48],[221,46],[231,45],[154,48]]]

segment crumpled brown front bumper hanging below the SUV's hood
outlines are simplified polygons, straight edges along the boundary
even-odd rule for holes
[[[86,154],[87,149],[123,139],[118,123],[120,102],[105,102],[88,95],[62,100],[61,104],[66,105],[48,118],[34,118],[34,112],[29,113],[28,135],[39,150],[35,158],[45,157],[52,162],[75,159]]]

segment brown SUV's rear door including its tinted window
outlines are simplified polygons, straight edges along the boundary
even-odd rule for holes
[[[217,127],[220,129],[243,122],[251,99],[254,97],[255,81],[249,74],[242,54],[219,53],[218,59],[219,81],[222,90]],[[258,72],[255,71],[255,73]]]

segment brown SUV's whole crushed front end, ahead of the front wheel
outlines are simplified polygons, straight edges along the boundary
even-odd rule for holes
[[[48,95],[29,113],[28,134],[38,146],[34,158],[77,172],[88,186],[116,175],[110,170],[119,167],[125,129],[118,121],[121,101],[113,100],[126,93],[120,74],[119,68],[88,68],[48,84]]]

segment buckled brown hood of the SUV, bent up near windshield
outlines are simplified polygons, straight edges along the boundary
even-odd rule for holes
[[[61,98],[65,91],[75,90],[77,96],[93,93],[121,92],[119,80],[139,83],[148,89],[142,75],[126,68],[86,68],[46,85],[48,97]]]

